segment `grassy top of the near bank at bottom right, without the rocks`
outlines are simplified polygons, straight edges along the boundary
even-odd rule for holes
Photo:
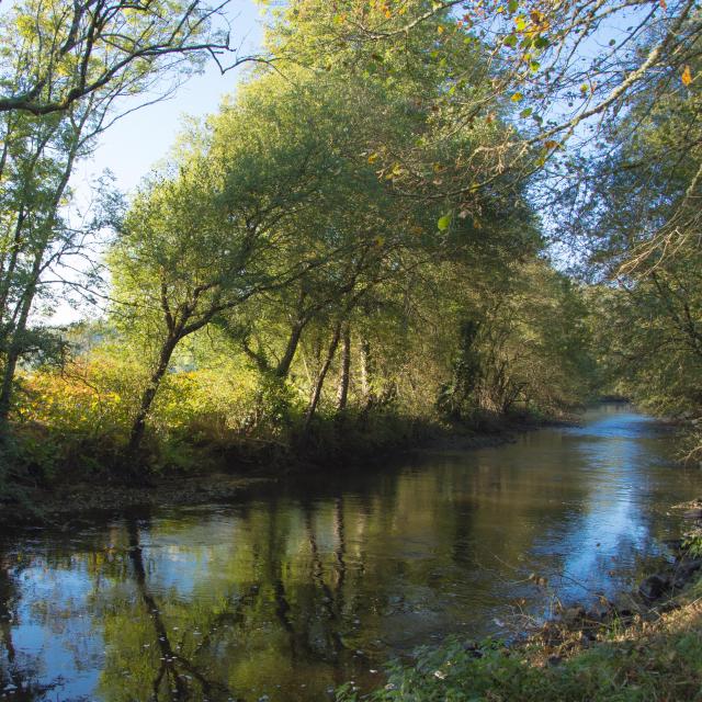
[[[667,607],[629,625],[613,622],[595,642],[574,632],[558,654],[537,641],[511,649],[452,642],[422,653],[416,666],[395,668],[365,699],[693,702],[702,699],[702,582]],[[358,698],[347,688],[337,699]]]

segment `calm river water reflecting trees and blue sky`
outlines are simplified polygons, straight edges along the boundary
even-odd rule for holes
[[[702,492],[671,443],[604,406],[237,505],[0,535],[0,700],[330,700],[446,634],[613,597]]]

